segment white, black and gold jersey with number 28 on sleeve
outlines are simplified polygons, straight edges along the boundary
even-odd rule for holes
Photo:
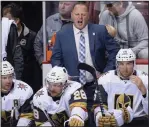
[[[86,101],[86,94],[78,82],[71,81],[62,96],[57,100],[54,100],[49,95],[46,87],[43,87],[33,97],[36,126],[46,125],[48,118],[50,118],[48,122],[51,125],[63,126],[64,122],[73,114],[77,114],[83,120],[86,120],[88,117]]]

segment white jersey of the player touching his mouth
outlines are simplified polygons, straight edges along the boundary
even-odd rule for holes
[[[125,106],[129,105],[132,108],[134,118],[148,114],[148,75],[141,71],[135,71],[134,75],[142,79],[147,89],[145,98],[137,85],[130,80],[122,80],[114,70],[107,72],[99,78],[98,84],[102,84],[108,93],[108,110],[119,109],[122,103],[126,101]],[[125,97],[124,94],[126,95]]]

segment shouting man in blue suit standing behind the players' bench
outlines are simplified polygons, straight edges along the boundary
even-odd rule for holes
[[[83,74],[77,70],[77,66],[78,63],[84,61],[95,67],[99,73],[115,69],[115,57],[120,47],[108,34],[106,27],[88,23],[88,7],[82,2],[76,3],[71,17],[73,24],[65,25],[56,33],[51,59],[52,66],[64,66],[70,76],[79,77]],[[79,80],[85,84],[84,89],[90,109],[95,89],[93,78],[85,73],[85,80],[83,82],[80,78]]]

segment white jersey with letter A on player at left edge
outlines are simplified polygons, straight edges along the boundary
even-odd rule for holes
[[[13,121],[13,126],[16,124],[17,126],[27,126],[33,119],[30,104],[32,95],[33,90],[28,84],[20,80],[13,80],[11,91],[7,94],[2,93],[2,125],[10,124]]]

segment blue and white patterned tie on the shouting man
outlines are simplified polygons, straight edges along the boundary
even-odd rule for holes
[[[79,41],[79,62],[85,63],[85,38],[84,33],[80,31],[80,41]],[[80,70],[80,77],[79,80],[82,84],[86,83],[86,73],[84,70]]]

